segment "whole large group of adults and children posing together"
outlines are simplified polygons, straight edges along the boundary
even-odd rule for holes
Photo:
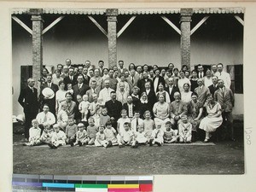
[[[26,145],[47,143],[51,148],[70,144],[110,147],[138,144],[210,141],[222,127],[222,134],[234,138],[230,74],[222,63],[204,69],[180,70],[135,66],[124,61],[118,67],[58,64],[55,73],[43,69],[39,90],[28,79],[20,90],[25,113]],[[32,127],[31,127],[32,125]]]

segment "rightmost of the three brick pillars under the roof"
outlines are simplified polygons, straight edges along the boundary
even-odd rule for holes
[[[193,9],[180,10],[181,29],[181,64],[187,65],[190,69],[190,22]]]

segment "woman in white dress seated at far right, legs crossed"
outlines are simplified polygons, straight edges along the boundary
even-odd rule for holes
[[[205,143],[207,143],[211,137],[211,133],[216,131],[222,124],[223,119],[221,116],[221,106],[218,102],[215,102],[212,95],[207,96],[207,102],[205,104],[207,108],[207,116],[201,119],[199,128],[206,131]]]

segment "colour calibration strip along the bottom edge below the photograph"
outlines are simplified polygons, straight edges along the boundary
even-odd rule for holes
[[[13,192],[152,192],[153,176],[55,176],[13,174]]]

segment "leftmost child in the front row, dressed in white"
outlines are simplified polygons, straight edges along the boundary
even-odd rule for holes
[[[24,143],[27,146],[35,146],[40,144],[41,129],[38,127],[38,120],[32,119],[32,128],[29,129],[28,143]]]

